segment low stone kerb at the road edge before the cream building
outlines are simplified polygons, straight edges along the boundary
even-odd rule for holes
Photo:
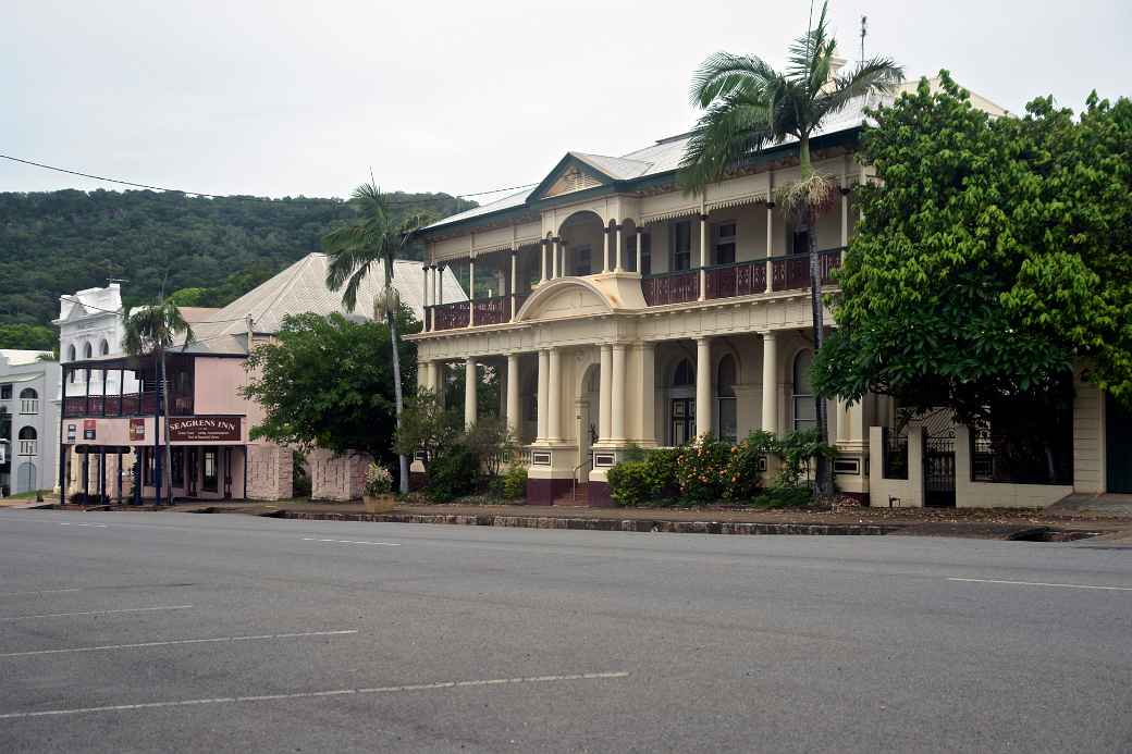
[[[316,513],[309,511],[273,511],[263,514],[275,519],[303,521],[367,521],[375,523],[453,524],[464,526],[511,526],[517,529],[574,529],[585,531],[624,531],[666,534],[794,534],[794,535],[873,535],[901,529],[884,524],[801,524],[801,523],[732,523],[720,521],[662,521],[651,519],[584,519],[550,516],[396,514],[396,513]]]

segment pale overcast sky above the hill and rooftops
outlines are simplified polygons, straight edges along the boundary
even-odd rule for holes
[[[213,194],[468,194],[694,122],[715,50],[772,63],[808,0],[5,0],[0,153]],[[1129,94],[1129,0],[833,0],[846,55],[947,68],[1014,112]],[[1124,86],[1125,88],[1122,88]],[[112,188],[0,160],[0,191]],[[487,197],[496,198],[496,197]],[[481,198],[481,200],[483,200]]]

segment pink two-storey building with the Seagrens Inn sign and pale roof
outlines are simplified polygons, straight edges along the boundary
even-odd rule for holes
[[[325,285],[326,267],[325,255],[311,254],[222,309],[182,309],[194,337],[165,357],[174,497],[277,500],[292,496],[292,452],[251,439],[263,410],[245,399],[240,388],[249,379],[245,363],[251,349],[273,339],[285,316],[345,314],[341,293]],[[375,271],[359,291],[359,302],[372,300],[381,279]],[[394,284],[421,317],[421,264],[396,263]],[[446,280],[445,288],[449,300],[463,298],[455,277]],[[367,309],[360,305],[358,315],[369,316]],[[156,497],[165,425],[157,359],[110,354],[68,360],[62,370],[60,478],[71,480],[67,486],[70,499],[130,497],[135,482],[135,499]],[[85,474],[75,473],[78,464]],[[353,468],[359,460],[316,452],[311,465],[315,481],[321,480],[323,496],[349,499],[360,494],[360,474]]]

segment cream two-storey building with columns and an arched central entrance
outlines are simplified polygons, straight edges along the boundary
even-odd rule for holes
[[[606,474],[631,446],[813,426],[806,242],[815,238],[834,291],[829,273],[854,233],[854,188],[867,179],[857,136],[876,104],[851,103],[814,137],[815,166],[839,190],[812,228],[774,202],[798,178],[796,144],[692,196],[676,186],[686,135],[617,157],[569,152],[535,188],[428,226],[426,327],[412,336],[421,385],[440,392],[445,370],[465,370],[470,423],[478,370],[501,376],[500,406],[524,445],[528,497],[538,504],[608,504]],[[470,301],[439,294],[448,269]],[[1039,505],[1115,490],[1124,482],[1114,487],[1109,472],[1132,465],[1132,449],[1113,455],[1106,405],[1079,383],[1075,482],[1018,485],[994,480],[989,445],[978,452],[966,428],[912,426],[898,445],[886,429],[890,399],[830,401],[835,483],[874,505]]]

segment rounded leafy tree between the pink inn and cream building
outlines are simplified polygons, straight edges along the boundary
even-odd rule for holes
[[[401,328],[414,326],[402,309]],[[415,348],[401,342],[402,379],[417,380]],[[396,428],[389,329],[342,315],[288,317],[275,340],[252,351],[245,397],[265,412],[254,437],[301,449],[363,452],[388,463]]]

